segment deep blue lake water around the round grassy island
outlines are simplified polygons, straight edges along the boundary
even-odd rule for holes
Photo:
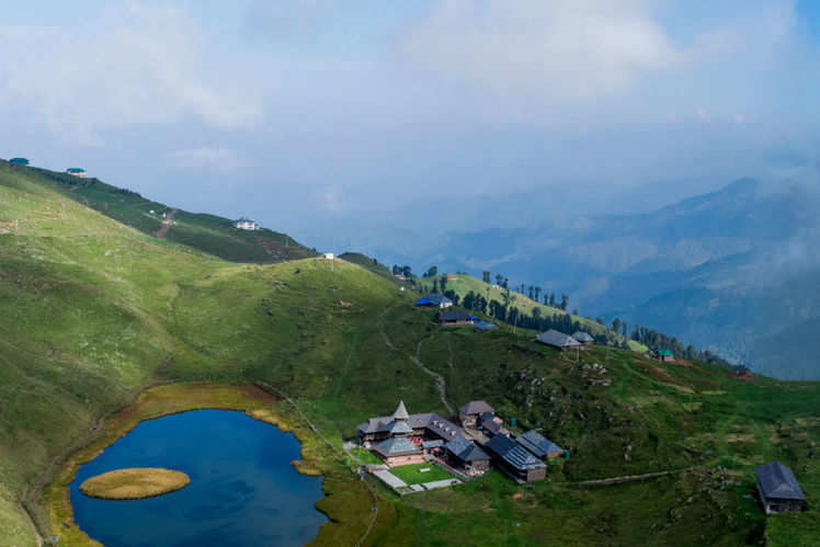
[[[296,472],[299,442],[241,412],[196,410],[150,420],[80,467],[75,521],[107,547],[291,546],[316,537],[321,478]],[[183,471],[191,483],[158,498],[105,501],[79,490],[124,467]]]

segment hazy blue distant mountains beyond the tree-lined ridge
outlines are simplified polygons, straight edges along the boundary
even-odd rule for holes
[[[568,221],[547,210],[537,226],[452,233],[411,259],[446,257],[439,271],[501,273],[568,293],[586,316],[651,327],[777,377],[820,378],[820,340],[808,335],[820,323],[817,203],[807,185],[742,179],[651,213]]]

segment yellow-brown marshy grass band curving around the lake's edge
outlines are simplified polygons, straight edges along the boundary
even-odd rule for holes
[[[122,408],[101,417],[89,430],[87,436],[67,449],[61,461],[55,461],[50,477],[42,486],[42,510],[46,529],[39,531],[45,537],[57,533],[58,543],[71,545],[99,546],[79,528],[73,518],[68,485],[75,479],[80,466],[99,456],[106,447],[128,434],[141,422],[180,414],[195,410],[230,410],[243,412],[249,418],[274,425],[281,431],[292,433],[300,444],[300,458],[292,461],[297,472],[306,476],[322,476],[322,465],[317,455],[308,454],[309,432],[288,423],[273,407],[281,400],[253,385],[225,385],[212,383],[169,383],[146,386],[128,398]],[[32,485],[36,488],[36,485]],[[322,486],[327,498],[329,493]],[[320,500],[321,501],[321,500]],[[317,503],[316,509],[323,513],[329,522],[339,523],[339,515],[329,514]],[[36,526],[36,522],[35,522]],[[323,527],[323,526],[322,526]],[[320,529],[321,535],[321,529]]]

